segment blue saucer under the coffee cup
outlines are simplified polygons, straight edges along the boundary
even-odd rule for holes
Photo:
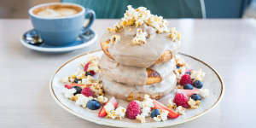
[[[87,32],[81,33],[77,40],[75,40],[71,44],[61,45],[61,46],[54,46],[45,44],[44,40],[39,38],[38,33],[35,30],[30,30],[22,34],[20,38],[21,44],[23,44],[28,49],[33,49],[41,52],[49,52],[49,53],[61,53],[61,52],[68,52],[73,51],[75,49],[82,49],[90,44],[93,44],[96,41],[96,32],[89,29]],[[33,44],[32,40],[39,40],[40,43]]]

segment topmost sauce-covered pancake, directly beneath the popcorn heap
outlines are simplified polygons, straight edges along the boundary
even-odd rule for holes
[[[131,28],[130,30],[127,30]],[[154,31],[150,26],[143,26],[143,31]],[[180,42],[172,42],[167,33],[151,33],[146,44],[131,44],[133,27],[127,27],[120,32],[106,33],[102,36],[101,46],[105,55],[122,65],[133,67],[150,67],[172,59],[177,54]],[[119,36],[119,41],[111,43],[111,37]]]

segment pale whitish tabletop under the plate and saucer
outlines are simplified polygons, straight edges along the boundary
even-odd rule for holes
[[[101,37],[115,21],[96,20],[92,29]],[[181,52],[206,61],[225,84],[224,98],[217,108],[173,127],[254,127],[256,20],[169,21],[182,33]],[[49,95],[49,79],[55,69],[75,55],[99,49],[99,39],[89,48],[50,55],[20,44],[20,35],[31,28],[30,20],[0,20],[0,127],[102,127],[67,113]]]

